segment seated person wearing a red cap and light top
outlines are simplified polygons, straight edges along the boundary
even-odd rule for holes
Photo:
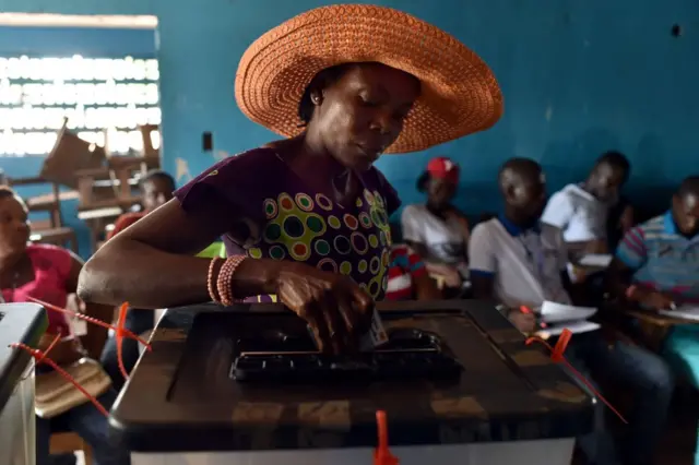
[[[457,291],[469,276],[470,235],[469,220],[451,204],[458,186],[459,166],[446,157],[433,158],[417,180],[427,202],[406,206],[401,216],[405,242],[425,259],[430,275]]]

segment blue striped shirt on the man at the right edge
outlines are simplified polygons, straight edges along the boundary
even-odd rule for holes
[[[616,257],[633,270],[635,283],[699,302],[699,236],[683,236],[672,212],[629,230]]]

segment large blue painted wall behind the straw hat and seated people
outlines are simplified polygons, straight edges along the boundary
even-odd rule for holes
[[[656,206],[666,204],[667,189],[699,170],[695,0],[375,2],[404,9],[459,37],[490,64],[505,94],[506,115],[493,130],[379,162],[405,202],[420,200],[414,181],[436,154],[463,166],[459,204],[472,214],[499,207],[496,171],[514,155],[540,160],[554,190],[582,178],[601,152],[621,150],[635,167],[632,196]],[[202,151],[203,131],[213,132],[216,151],[227,153],[273,138],[235,106],[238,59],[268,28],[325,3],[0,0],[0,10],[156,14],[164,165],[176,172],[181,158],[197,175],[214,162]],[[675,23],[684,28],[679,38],[671,35]]]

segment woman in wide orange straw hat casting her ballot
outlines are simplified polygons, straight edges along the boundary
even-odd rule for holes
[[[374,162],[491,127],[498,84],[437,27],[350,4],[256,40],[235,94],[286,139],[216,164],[115,237],[86,264],[81,296],[138,308],[271,298],[306,319],[323,349],[352,348],[383,298],[388,217],[400,204]],[[226,260],[191,257],[220,236]]]

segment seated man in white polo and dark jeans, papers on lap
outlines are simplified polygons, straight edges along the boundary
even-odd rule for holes
[[[531,315],[518,311],[520,306],[571,301],[567,250],[560,230],[540,222],[546,191],[538,164],[510,159],[498,180],[505,212],[476,226],[471,236],[473,293],[476,298],[494,299],[511,309],[508,318],[529,333],[535,330],[535,323]],[[594,371],[632,390],[636,408],[623,458],[629,464],[652,463],[673,391],[665,363],[639,347],[616,343],[609,348],[599,331],[573,336],[566,357],[585,374]],[[581,438],[580,445],[590,463],[617,463],[607,432]]]

